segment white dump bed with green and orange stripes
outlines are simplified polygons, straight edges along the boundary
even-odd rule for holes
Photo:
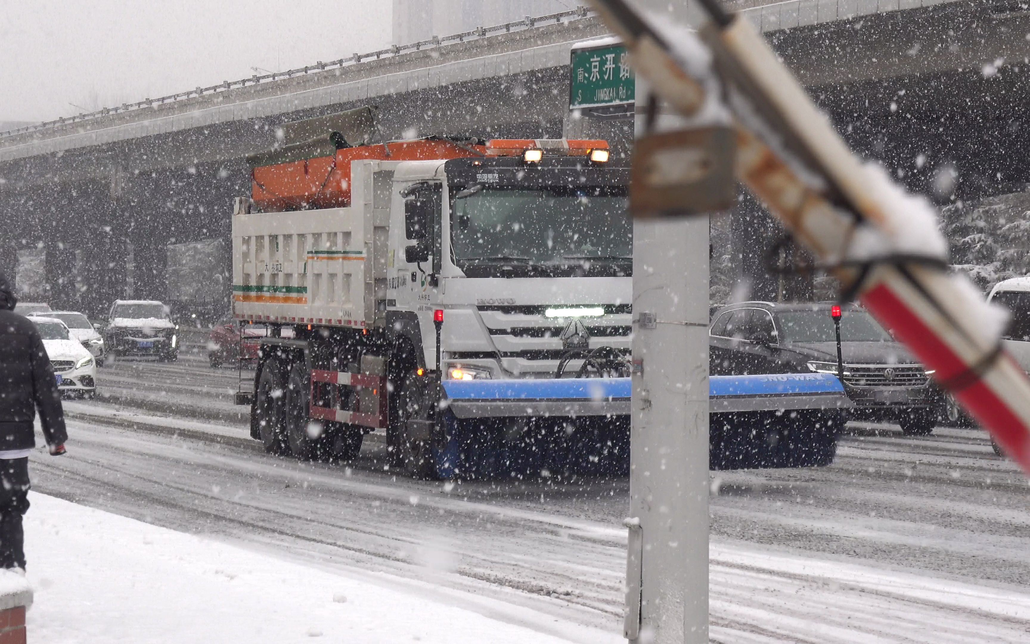
[[[335,327],[382,324],[397,163],[353,162],[347,208],[250,213],[241,200],[232,232],[234,315]]]

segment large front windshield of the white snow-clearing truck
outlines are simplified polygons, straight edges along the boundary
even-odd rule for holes
[[[624,188],[468,188],[451,206],[451,258],[467,273],[491,264],[631,264]]]

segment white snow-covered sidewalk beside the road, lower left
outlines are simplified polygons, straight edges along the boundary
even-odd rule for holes
[[[428,589],[390,587],[388,575],[371,583],[44,495],[30,501],[35,644],[566,642],[434,601]],[[575,624],[555,633],[570,630],[582,631],[583,641],[622,641]]]

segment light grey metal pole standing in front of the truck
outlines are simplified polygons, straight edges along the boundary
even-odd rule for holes
[[[638,76],[638,136],[646,96]],[[672,129],[673,122],[659,114],[657,129]],[[707,215],[633,224],[632,307],[624,635],[630,642],[703,643],[709,616]]]

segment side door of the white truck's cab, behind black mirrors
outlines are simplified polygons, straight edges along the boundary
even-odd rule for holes
[[[443,185],[440,181],[418,181],[400,189],[399,234],[391,253],[393,267],[388,284],[389,298],[400,311],[411,312],[418,320],[425,364],[436,364],[436,331],[433,309],[439,302],[438,283],[442,266],[441,229]],[[397,221],[397,219],[394,219]]]

